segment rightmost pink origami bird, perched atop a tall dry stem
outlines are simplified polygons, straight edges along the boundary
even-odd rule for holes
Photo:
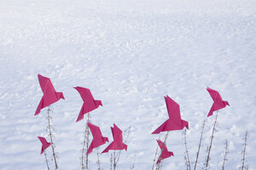
[[[212,88],[207,88],[207,91],[211,95],[213,99],[212,108],[210,109],[207,116],[212,116],[213,111],[218,111],[220,109],[223,109],[226,105],[230,105],[229,102],[224,101],[218,91],[213,90]]]

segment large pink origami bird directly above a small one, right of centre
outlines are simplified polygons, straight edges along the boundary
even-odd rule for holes
[[[158,127],[152,134],[171,130],[181,130],[183,127],[187,127],[187,129],[189,129],[189,122],[181,119],[179,105],[177,105],[177,103],[169,96],[165,96],[165,99],[169,119]]]

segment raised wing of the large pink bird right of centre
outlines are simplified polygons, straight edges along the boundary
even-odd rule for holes
[[[169,96],[166,96],[165,99],[169,118],[177,121],[181,120],[179,105]]]

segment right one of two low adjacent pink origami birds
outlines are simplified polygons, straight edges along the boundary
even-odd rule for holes
[[[108,145],[108,147],[102,151],[102,153],[108,152],[108,150],[127,150],[127,145],[123,143],[122,131],[113,123],[111,127],[113,142]]]

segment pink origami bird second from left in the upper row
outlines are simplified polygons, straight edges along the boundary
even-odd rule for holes
[[[84,119],[84,114],[88,113],[89,111],[93,111],[98,108],[99,105],[102,105],[102,100],[95,100],[91,95],[89,88],[76,87],[75,89],[78,90],[81,98],[84,101],[77,119],[77,122],[79,122],[80,120]]]

